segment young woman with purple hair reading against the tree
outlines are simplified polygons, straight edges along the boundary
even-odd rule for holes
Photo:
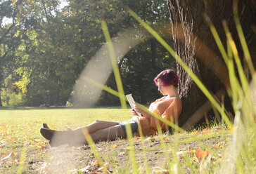
[[[79,146],[87,144],[84,133],[89,133],[94,142],[116,140],[117,138],[127,138],[127,130],[125,126],[129,124],[132,128],[133,135],[139,135],[139,126],[143,136],[155,135],[157,131],[157,123],[160,124],[162,131],[166,131],[167,126],[162,121],[155,119],[153,114],[160,115],[163,119],[177,123],[179,114],[181,113],[181,99],[177,92],[179,76],[172,69],[166,69],[154,79],[155,85],[158,86],[158,91],[164,97],[155,100],[151,103],[148,112],[141,109],[139,105],[135,105],[135,110],[132,110],[132,119],[129,121],[94,121],[94,123],[77,128],[75,130],[56,131],[51,130],[46,124],[41,128],[41,135],[47,140],[50,140],[51,147],[68,144],[71,146]],[[136,112],[142,114],[137,116]],[[152,113],[152,114],[151,114]]]

